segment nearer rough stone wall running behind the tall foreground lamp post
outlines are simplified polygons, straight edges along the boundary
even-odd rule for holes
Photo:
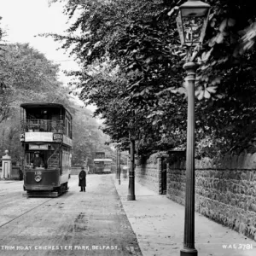
[[[256,154],[195,161],[195,211],[256,241]],[[167,170],[167,197],[184,205],[185,161]]]

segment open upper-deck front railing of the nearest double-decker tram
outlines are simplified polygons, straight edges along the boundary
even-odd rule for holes
[[[28,131],[45,131],[64,133],[64,122],[62,120],[52,119],[27,119],[21,121],[21,130]]]

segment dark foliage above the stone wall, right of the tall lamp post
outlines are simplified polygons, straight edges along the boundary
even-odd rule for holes
[[[199,100],[206,99],[197,103],[197,125],[204,124],[205,140],[211,137],[202,153],[254,152],[253,1],[209,2],[213,8],[196,93]]]

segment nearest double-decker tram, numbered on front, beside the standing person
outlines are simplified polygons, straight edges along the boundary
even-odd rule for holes
[[[71,114],[61,104],[23,103],[20,119],[26,195],[61,195],[71,172]]]

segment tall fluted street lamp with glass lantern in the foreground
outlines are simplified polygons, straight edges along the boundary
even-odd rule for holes
[[[179,7],[177,30],[181,44],[191,49],[202,44],[205,37],[211,6],[197,0],[188,0]],[[181,256],[197,256],[195,249],[195,74],[198,65],[189,59],[183,68],[187,72],[186,89],[188,92],[187,158],[186,158],[186,195],[184,240]]]

